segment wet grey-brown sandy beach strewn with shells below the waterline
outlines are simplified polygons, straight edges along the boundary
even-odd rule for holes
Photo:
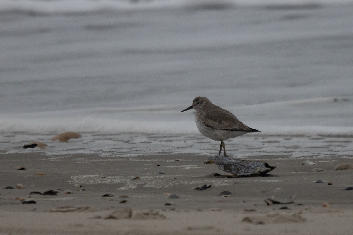
[[[333,170],[351,159],[315,158],[317,165],[302,165],[305,159],[266,156],[277,168],[248,178],[211,177],[225,172],[203,164],[207,159],[1,154],[0,234],[353,234],[353,190],[344,190],[353,184],[353,170]],[[13,170],[21,165],[27,169]],[[311,172],[316,167],[326,171]],[[195,190],[200,184],[212,186]],[[58,195],[29,195],[48,190]],[[220,197],[225,190],[232,195]],[[292,195],[291,204],[265,203]],[[24,198],[36,204],[23,204]]]

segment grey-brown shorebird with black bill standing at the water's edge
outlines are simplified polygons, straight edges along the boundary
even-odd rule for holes
[[[218,155],[221,155],[223,148],[224,155],[227,156],[223,140],[235,138],[250,132],[261,132],[246,126],[231,112],[214,105],[206,97],[196,97],[192,101],[192,106],[181,112],[190,109],[196,110],[195,122],[199,131],[212,140],[221,141]]]

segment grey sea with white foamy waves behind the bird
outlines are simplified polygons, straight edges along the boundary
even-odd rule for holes
[[[230,155],[353,155],[352,12],[344,0],[0,0],[0,152],[211,155],[219,143],[180,112],[206,96],[262,131],[227,141]],[[83,137],[50,141],[65,131]]]

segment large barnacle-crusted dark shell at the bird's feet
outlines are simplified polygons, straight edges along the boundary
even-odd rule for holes
[[[210,157],[204,164],[215,164],[222,171],[231,173],[233,177],[261,176],[276,168],[263,161],[246,161],[220,155]]]

